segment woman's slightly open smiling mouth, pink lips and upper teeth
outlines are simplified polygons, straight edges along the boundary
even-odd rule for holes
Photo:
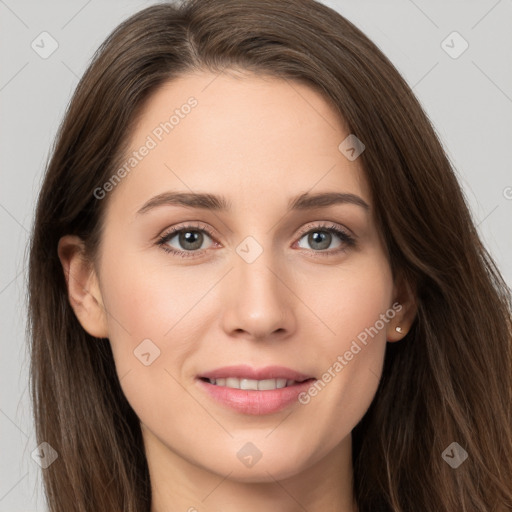
[[[282,366],[254,369],[242,365],[218,368],[196,380],[215,403],[237,413],[264,415],[298,403],[298,395],[316,378]]]

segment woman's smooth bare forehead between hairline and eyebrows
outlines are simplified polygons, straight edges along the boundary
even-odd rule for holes
[[[262,194],[315,189],[357,192],[369,203],[359,162],[338,149],[348,135],[329,102],[303,83],[195,72],[146,102],[123,163],[134,152],[137,161],[117,189],[126,188],[134,208],[167,189],[233,193],[256,208]]]

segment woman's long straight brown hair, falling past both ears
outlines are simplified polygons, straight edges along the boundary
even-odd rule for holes
[[[59,129],[30,248],[31,391],[51,512],[148,512],[138,418],[107,339],[69,304],[63,235],[94,258],[108,198],[145,101],[194,69],[243,69],[309,84],[366,146],[361,155],[394,275],[417,318],[389,344],[382,379],[353,431],[360,512],[512,509],[510,291],[483,247],[451,164],[420,104],[381,51],[313,0],[192,0],[146,8],[101,45]],[[341,142],[341,141],[340,141]],[[136,172],[136,171],[134,171]],[[443,459],[457,442],[468,459]]]

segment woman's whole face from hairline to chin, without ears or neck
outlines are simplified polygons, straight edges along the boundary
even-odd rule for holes
[[[321,95],[275,78],[196,73],[147,103],[129,171],[98,199],[96,272],[163,464],[254,482],[346,449],[399,309],[348,135]]]

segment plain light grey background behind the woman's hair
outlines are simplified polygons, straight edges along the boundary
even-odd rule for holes
[[[25,254],[44,166],[94,50],[123,19],[153,3],[0,0],[0,512],[46,510],[41,469],[30,456],[36,445],[24,332]],[[510,285],[512,0],[324,3],[376,42],[413,87]],[[47,59],[31,48],[43,31],[59,45]],[[441,46],[453,31],[469,44],[456,59]],[[452,52],[462,48],[457,38],[446,44]]]

